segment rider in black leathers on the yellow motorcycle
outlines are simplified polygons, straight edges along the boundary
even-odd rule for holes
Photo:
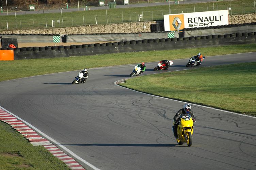
[[[177,134],[178,123],[177,122],[179,121],[179,116],[183,115],[183,114],[190,114],[190,116],[192,117],[193,122],[195,122],[194,113],[193,113],[193,111],[191,111],[191,105],[190,104],[185,104],[183,106],[183,108],[179,109],[179,111],[173,117],[173,120],[175,122],[175,124],[173,126],[174,137],[178,137],[178,134]]]

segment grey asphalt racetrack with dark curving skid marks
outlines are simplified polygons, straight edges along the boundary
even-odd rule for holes
[[[256,62],[255,56],[206,57],[199,67]],[[188,60],[174,60],[168,71],[192,69]],[[144,74],[165,72],[153,71],[157,63],[146,63]],[[114,84],[134,65],[89,69],[85,84],[71,85],[77,71],[3,81],[0,106],[72,151],[86,169],[93,169],[86,162],[102,170],[255,169],[255,117],[192,104],[193,144],[179,146],[171,127],[184,102]]]

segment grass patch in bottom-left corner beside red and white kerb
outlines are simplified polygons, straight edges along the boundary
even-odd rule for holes
[[[0,169],[69,169],[43,146],[32,146],[17,131],[0,121]]]

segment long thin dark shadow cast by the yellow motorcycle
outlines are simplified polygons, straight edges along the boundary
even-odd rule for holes
[[[176,144],[114,144],[114,143],[91,143],[91,144],[62,144],[69,146],[109,146],[109,147],[175,147]],[[178,144],[177,144],[178,145]]]

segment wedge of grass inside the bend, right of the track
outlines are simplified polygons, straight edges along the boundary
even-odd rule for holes
[[[156,96],[256,116],[253,107],[256,104],[255,79],[256,63],[242,63],[146,75],[128,79],[120,85]]]

